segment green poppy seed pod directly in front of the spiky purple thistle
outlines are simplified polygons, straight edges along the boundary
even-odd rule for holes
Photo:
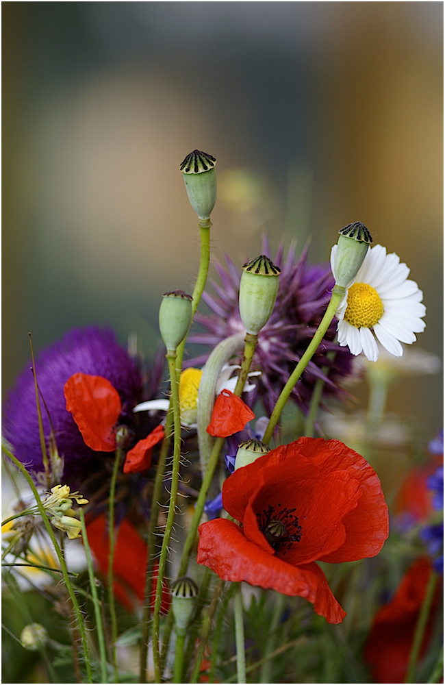
[[[281,269],[268,257],[260,255],[242,265],[240,315],[246,332],[256,336],[275,305]]]

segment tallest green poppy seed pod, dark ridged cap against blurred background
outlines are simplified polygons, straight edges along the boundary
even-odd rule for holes
[[[183,173],[188,199],[199,219],[209,219],[216,202],[216,159],[194,150],[183,160]],[[209,224],[210,225],[210,224]]]

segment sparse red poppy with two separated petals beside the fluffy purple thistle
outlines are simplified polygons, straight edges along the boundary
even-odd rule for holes
[[[66,409],[73,414],[88,447],[98,452],[116,449],[114,428],[122,412],[118,391],[109,380],[88,373],[75,373],[64,384]],[[124,473],[147,471],[151,466],[151,448],[164,438],[164,428],[157,426],[127,452]]]

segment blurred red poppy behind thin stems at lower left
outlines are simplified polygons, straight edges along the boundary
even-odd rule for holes
[[[99,571],[105,580],[108,573],[108,558],[110,553],[110,538],[107,531],[107,521],[104,514],[100,514],[86,525],[88,542],[96,558]],[[124,519],[117,529],[113,558],[113,592],[114,596],[129,611],[134,610],[135,598],[144,601],[145,571],[147,568],[148,547],[142,540],[136,528]],[[152,608],[155,602],[157,581],[157,565],[153,574],[151,593]],[[162,612],[166,613],[170,606],[168,586],[164,583],[162,591]]]

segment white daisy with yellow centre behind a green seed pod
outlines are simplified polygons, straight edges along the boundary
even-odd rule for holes
[[[331,250],[331,269],[337,245]],[[425,328],[422,316],[427,309],[422,304],[423,292],[416,282],[408,280],[409,269],[393,252],[386,253],[382,245],[368,250],[355,279],[346,286],[346,295],[335,314],[337,336],[341,347],[352,354],[362,351],[370,362],[379,357],[379,343],[396,357],[403,355],[401,343],[416,341],[415,333]],[[377,340],[376,340],[377,338]]]

